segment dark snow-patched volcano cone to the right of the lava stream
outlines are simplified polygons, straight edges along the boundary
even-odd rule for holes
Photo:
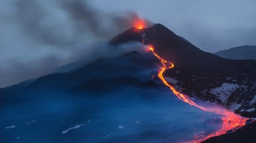
[[[155,53],[175,65],[163,76],[177,91],[222,104],[244,116],[256,116],[255,60],[230,60],[204,52],[162,24],[142,30],[130,28],[111,43],[129,41],[152,45]]]

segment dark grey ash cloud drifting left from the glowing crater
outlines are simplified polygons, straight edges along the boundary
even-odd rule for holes
[[[140,19],[82,0],[1,1],[0,9],[0,88],[80,60]]]

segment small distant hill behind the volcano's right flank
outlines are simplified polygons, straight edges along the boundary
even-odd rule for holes
[[[230,58],[234,60],[246,60],[253,59],[256,60],[256,46],[240,46],[233,47],[227,50],[221,50],[214,53],[223,58]]]

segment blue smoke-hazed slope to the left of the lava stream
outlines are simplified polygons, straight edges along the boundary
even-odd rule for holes
[[[219,130],[221,115],[180,101],[152,77],[160,66],[151,52],[131,52],[0,89],[1,142],[165,143]]]

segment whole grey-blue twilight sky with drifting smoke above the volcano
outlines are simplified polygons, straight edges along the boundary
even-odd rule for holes
[[[0,87],[90,55],[92,43],[108,41],[138,16],[207,52],[256,45],[255,6],[254,0],[0,1]]]

